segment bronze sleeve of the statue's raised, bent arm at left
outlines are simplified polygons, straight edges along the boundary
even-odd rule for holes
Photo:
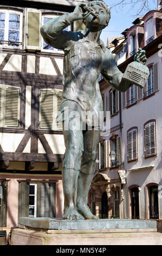
[[[63,29],[69,25],[71,23],[68,21],[68,14],[64,14],[46,22],[40,28],[40,32],[46,44],[64,50],[67,47],[67,42],[70,40],[72,32],[63,31]]]

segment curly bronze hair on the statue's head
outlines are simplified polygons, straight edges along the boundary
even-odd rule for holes
[[[109,20],[110,20],[110,17],[111,17],[111,13],[110,13],[110,8],[108,7],[107,4],[105,4],[103,1],[91,1],[87,4],[87,6],[92,10],[94,9],[93,10],[94,12],[95,12],[95,7],[96,8],[101,7],[101,9],[104,9],[105,14],[106,14],[104,27],[108,26],[108,23],[109,23]]]

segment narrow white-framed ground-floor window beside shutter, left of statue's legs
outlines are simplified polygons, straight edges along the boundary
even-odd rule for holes
[[[36,217],[36,192],[37,185],[29,185],[29,217]]]

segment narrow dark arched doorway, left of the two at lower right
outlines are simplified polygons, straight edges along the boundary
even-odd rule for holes
[[[140,218],[139,211],[139,190],[138,187],[131,189],[131,208],[132,208],[132,219]]]

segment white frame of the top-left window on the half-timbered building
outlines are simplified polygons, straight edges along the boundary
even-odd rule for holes
[[[4,41],[8,41],[9,36],[9,14],[17,14],[20,15],[20,30],[19,30],[19,46],[9,46],[8,42],[4,42],[4,45],[0,45],[0,48],[11,48],[11,49],[20,49],[22,50],[22,44],[23,44],[23,35],[22,35],[22,29],[23,29],[23,11],[13,10],[13,9],[1,9],[0,13],[5,13],[5,25],[4,25]],[[6,16],[7,15],[7,16]],[[6,25],[7,23],[7,25]],[[14,29],[13,29],[14,30]]]

